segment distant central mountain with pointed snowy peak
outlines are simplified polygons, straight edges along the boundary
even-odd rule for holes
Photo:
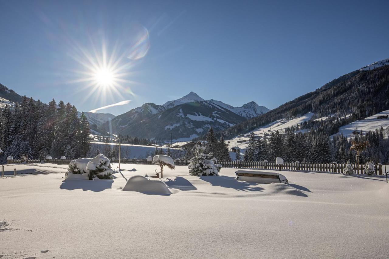
[[[190,92],[164,105],[145,103],[121,114],[103,125],[103,129],[115,134],[156,140],[191,140],[204,134],[211,126],[223,130],[254,116],[268,112],[266,107],[254,101],[233,107],[222,101],[204,100]]]

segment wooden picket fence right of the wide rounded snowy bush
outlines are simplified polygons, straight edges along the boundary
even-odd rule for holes
[[[119,159],[115,158],[112,163],[118,163]],[[122,164],[138,164],[138,165],[151,165],[147,159],[120,159]],[[178,166],[189,165],[188,160],[175,159],[174,164]],[[224,168],[247,168],[247,169],[274,169],[274,170],[293,170],[293,171],[314,171],[314,172],[329,172],[329,173],[343,173],[346,164],[340,163],[284,163],[284,165],[276,165],[274,162],[243,162],[243,161],[217,161],[217,164],[222,165]],[[356,174],[364,173],[364,165],[357,165],[355,168],[352,165]],[[382,175],[382,165],[374,165],[376,175]]]

